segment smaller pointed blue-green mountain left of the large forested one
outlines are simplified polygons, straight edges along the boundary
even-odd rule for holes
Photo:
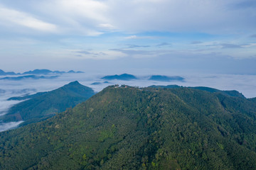
[[[23,120],[25,121],[23,125],[35,123],[65,111],[66,108],[74,107],[78,103],[86,101],[93,94],[95,92],[89,87],[82,86],[78,81],[73,81],[53,91],[11,98],[16,100],[31,99],[12,106],[6,115],[0,117],[0,120],[5,123]]]

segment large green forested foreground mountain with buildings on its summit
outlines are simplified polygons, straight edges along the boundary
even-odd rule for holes
[[[198,89],[109,86],[0,133],[0,169],[256,169],[256,103]]]

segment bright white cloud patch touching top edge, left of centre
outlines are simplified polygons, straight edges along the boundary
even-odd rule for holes
[[[40,1],[34,7],[55,21],[65,35],[98,36],[115,28],[106,15],[109,6],[103,1]]]

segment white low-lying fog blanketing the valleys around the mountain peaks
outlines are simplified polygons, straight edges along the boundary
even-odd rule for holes
[[[7,101],[13,96],[23,96],[26,94],[35,94],[39,91],[51,91],[60,86],[79,81],[80,84],[89,86],[94,91],[101,91],[106,86],[112,84],[127,84],[129,86],[146,87],[151,85],[170,85],[179,86],[208,86],[220,90],[237,90],[246,98],[256,97],[256,75],[246,74],[164,74],[166,76],[183,77],[185,81],[149,81],[151,75],[133,74],[139,79],[131,81],[103,80],[101,77],[107,74],[63,74],[55,79],[23,79],[20,81],[0,80],[0,115],[6,114],[8,109],[20,101]],[[0,77],[1,78],[1,77]],[[108,81],[108,83],[104,83]],[[92,85],[92,83],[97,84]],[[15,128],[21,122],[1,123],[0,132]]]

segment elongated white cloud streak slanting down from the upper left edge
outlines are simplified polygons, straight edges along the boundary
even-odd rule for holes
[[[2,6],[0,6],[0,21],[1,23],[14,23],[34,30],[46,32],[55,32],[57,30],[57,27],[52,23],[41,21],[28,13],[4,8]]]

